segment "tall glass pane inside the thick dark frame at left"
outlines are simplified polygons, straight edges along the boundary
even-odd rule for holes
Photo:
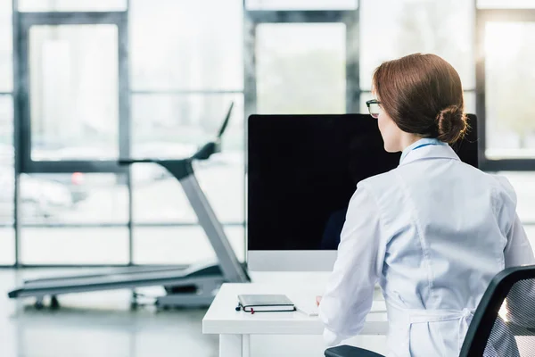
[[[117,46],[114,25],[30,28],[34,160],[118,157]]]

